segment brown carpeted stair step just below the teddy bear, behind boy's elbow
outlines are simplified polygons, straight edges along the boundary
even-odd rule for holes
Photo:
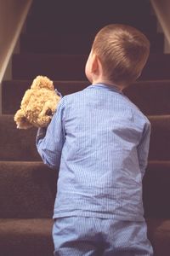
[[[150,160],[169,160],[170,115],[149,116],[152,131]],[[0,116],[0,160],[40,160],[35,145],[37,129],[18,130],[13,115]]]

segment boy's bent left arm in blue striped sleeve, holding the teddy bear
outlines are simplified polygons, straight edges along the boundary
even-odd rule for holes
[[[65,143],[65,131],[63,126],[64,108],[59,102],[48,128],[39,128],[37,131],[37,151],[44,164],[51,168],[59,168],[60,156]]]

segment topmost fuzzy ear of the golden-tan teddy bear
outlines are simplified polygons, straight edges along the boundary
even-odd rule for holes
[[[31,84],[31,89],[41,89],[46,88],[48,90],[54,90],[53,81],[48,79],[48,77],[37,76]]]

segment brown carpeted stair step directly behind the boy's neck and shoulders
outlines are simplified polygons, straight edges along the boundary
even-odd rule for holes
[[[88,81],[54,81],[63,96],[83,90]],[[20,108],[25,91],[31,80],[11,80],[3,82],[3,113],[14,114]],[[124,94],[147,115],[170,113],[170,80],[138,81],[124,90]]]

